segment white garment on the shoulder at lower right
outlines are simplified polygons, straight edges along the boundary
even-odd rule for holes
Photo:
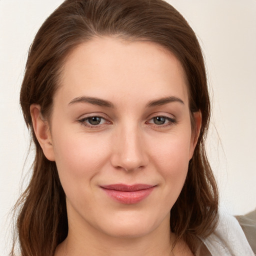
[[[219,214],[219,223],[203,243],[212,256],[254,256],[236,218],[227,213]]]

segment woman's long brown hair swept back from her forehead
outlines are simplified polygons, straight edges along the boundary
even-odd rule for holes
[[[193,30],[163,0],[65,0],[34,38],[20,91],[24,119],[36,148],[30,183],[16,204],[22,256],[53,255],[68,232],[65,194],[57,168],[46,159],[35,137],[29,107],[39,104],[41,114],[49,118],[65,57],[79,43],[103,35],[158,43],[181,62],[191,116],[200,110],[202,123],[184,186],[170,211],[170,228],[195,251],[196,237],[206,237],[216,225],[217,187],[204,148],[210,103],[204,61]]]

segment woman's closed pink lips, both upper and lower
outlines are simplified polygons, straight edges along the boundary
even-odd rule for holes
[[[126,204],[142,201],[152,192],[154,187],[155,186],[148,184],[111,184],[101,186],[108,196],[118,202]]]

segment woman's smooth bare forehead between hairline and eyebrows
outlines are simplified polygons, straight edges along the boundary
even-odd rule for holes
[[[172,52],[153,42],[115,37],[97,37],[75,47],[64,61],[59,90],[68,99],[96,94],[146,100],[174,93],[188,100],[184,71]]]

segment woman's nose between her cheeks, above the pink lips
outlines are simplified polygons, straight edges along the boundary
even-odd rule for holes
[[[112,166],[126,171],[143,168],[148,163],[141,131],[134,127],[119,128],[112,143]]]

